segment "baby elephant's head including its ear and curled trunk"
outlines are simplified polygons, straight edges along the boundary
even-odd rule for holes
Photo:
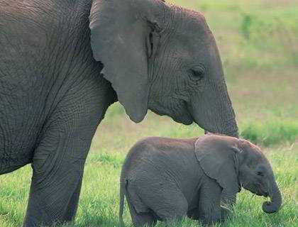
[[[196,155],[205,174],[221,185],[223,194],[232,196],[243,187],[270,197],[263,204],[266,213],[280,209],[282,196],[272,167],[258,146],[243,139],[205,135],[196,142]]]

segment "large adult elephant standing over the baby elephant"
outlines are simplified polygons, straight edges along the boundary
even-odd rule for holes
[[[161,0],[1,0],[0,48],[0,173],[33,167],[23,226],[73,220],[92,137],[115,101],[136,123],[150,109],[238,133],[200,13]]]

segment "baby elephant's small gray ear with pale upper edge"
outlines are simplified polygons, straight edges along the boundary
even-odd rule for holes
[[[238,184],[236,138],[205,135],[195,143],[195,155],[204,173],[215,179],[223,188],[223,194],[233,196],[240,191]]]

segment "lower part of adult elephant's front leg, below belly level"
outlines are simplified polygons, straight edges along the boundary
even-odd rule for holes
[[[61,156],[57,155],[55,160],[50,157],[45,162],[47,170],[40,170],[33,164],[34,172],[24,226],[50,226],[55,222],[72,221],[75,217],[84,160],[69,159],[60,162],[59,159],[64,158]],[[51,163],[52,161],[54,163]]]

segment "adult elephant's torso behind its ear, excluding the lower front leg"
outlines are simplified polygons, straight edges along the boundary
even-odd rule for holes
[[[40,146],[58,150],[63,146],[60,138],[87,152],[99,121],[116,101],[86,41],[91,1],[80,8],[70,3],[58,8],[43,1],[5,2],[0,3],[0,150],[6,156],[1,154],[0,173],[32,162]],[[83,132],[75,135],[78,130]]]

